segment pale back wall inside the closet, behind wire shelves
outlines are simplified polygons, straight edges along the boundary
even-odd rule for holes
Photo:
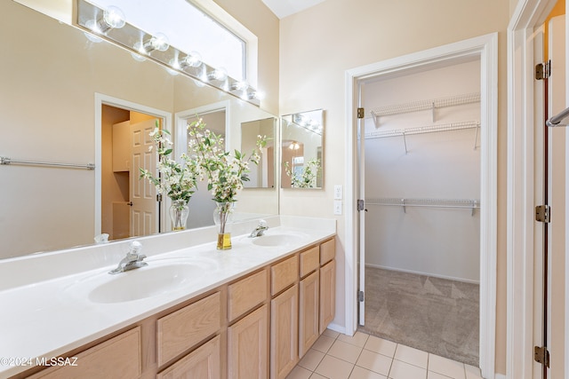
[[[365,84],[366,265],[479,280],[480,102],[370,117],[479,91],[478,60]]]

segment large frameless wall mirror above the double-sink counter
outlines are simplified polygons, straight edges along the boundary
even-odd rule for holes
[[[132,169],[128,144],[137,133],[148,144],[156,120],[172,131],[176,156],[196,113],[211,114],[208,128],[226,134],[228,149],[241,148],[242,125],[275,120],[242,99],[172,75],[149,59],[137,61],[114,44],[92,42],[83,31],[16,2],[0,2],[0,13],[6,15],[0,24],[0,156],[12,160],[0,165],[0,258],[91,244],[99,233],[117,240],[171,231],[167,205],[152,201],[155,218],[132,232],[133,194],[151,193],[152,186]],[[18,160],[78,164],[14,164]],[[95,169],[81,168],[86,164]],[[197,220],[212,224],[212,211],[199,203],[213,201],[200,195],[191,200],[188,227],[203,226]],[[270,186],[244,190],[236,209],[239,219],[276,215],[278,193]]]

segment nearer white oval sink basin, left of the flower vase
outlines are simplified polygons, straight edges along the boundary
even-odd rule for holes
[[[111,304],[165,295],[201,280],[212,262],[148,261],[142,268],[110,275],[107,272],[76,283],[69,290],[86,296],[93,303]]]

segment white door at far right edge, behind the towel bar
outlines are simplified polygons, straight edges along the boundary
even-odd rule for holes
[[[549,117],[566,107],[565,16],[549,20]],[[548,128],[548,198],[551,221],[548,228],[548,320],[547,346],[550,378],[564,377],[565,361],[565,134],[566,128]]]

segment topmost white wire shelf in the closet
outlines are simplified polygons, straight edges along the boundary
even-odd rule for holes
[[[418,100],[409,103],[395,104],[384,107],[374,107],[371,114],[375,122],[382,115],[405,114],[424,110],[434,110],[443,107],[461,106],[463,104],[477,103],[480,101],[480,92],[466,93],[463,95],[449,96],[441,99]]]

